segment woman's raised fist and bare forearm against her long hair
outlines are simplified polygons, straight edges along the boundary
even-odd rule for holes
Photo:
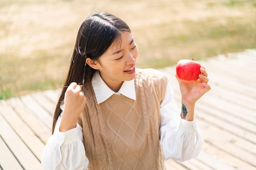
[[[81,91],[82,86],[71,83],[65,92],[64,110],[61,117],[59,131],[65,132],[76,127],[80,113],[86,104],[86,97]]]

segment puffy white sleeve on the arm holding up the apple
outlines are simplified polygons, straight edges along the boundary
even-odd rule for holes
[[[159,137],[164,159],[186,161],[200,153],[203,137],[193,121],[180,117],[180,109],[174,102],[173,90],[167,85],[164,100],[160,105]]]

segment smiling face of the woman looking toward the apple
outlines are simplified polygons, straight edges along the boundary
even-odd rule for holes
[[[98,68],[103,81],[117,92],[124,81],[135,77],[135,62],[139,51],[131,33],[121,33],[120,41],[114,41],[99,58]]]

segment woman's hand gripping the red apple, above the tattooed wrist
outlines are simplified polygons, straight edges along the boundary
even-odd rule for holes
[[[204,67],[200,68],[201,74],[197,81],[181,81],[176,74],[176,78],[180,84],[180,92],[182,100],[188,104],[195,104],[211,87],[208,84],[208,74]]]

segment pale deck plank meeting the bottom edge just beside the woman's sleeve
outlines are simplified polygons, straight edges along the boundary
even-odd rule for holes
[[[8,144],[9,149],[25,170],[43,169],[40,161],[31,153],[31,150],[27,148],[27,145],[13,131],[12,127],[4,120],[1,114],[0,129],[4,129],[4,131],[0,131],[2,139]]]

